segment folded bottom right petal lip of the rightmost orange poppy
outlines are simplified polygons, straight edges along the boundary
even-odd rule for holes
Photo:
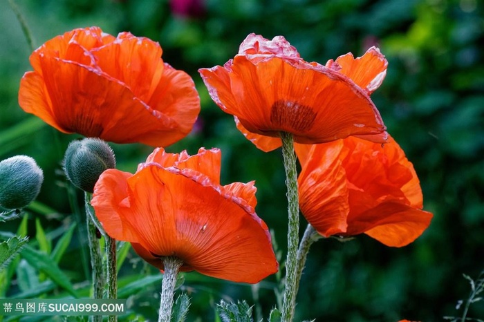
[[[416,240],[430,225],[432,214],[396,202],[383,202],[364,214],[348,218],[346,234],[367,234],[391,247]],[[351,221],[350,221],[351,220]]]

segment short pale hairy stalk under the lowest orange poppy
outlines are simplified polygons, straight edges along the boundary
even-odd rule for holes
[[[161,282],[158,322],[170,322],[171,310],[173,310],[176,276],[178,275],[178,269],[183,265],[183,261],[174,256],[163,257],[162,261],[163,265],[165,265],[165,274],[163,274],[163,281]]]

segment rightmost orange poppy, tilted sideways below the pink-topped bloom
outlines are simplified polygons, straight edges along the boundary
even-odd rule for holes
[[[322,236],[364,233],[401,247],[429,226],[416,172],[393,138],[297,144],[296,153],[301,212]]]

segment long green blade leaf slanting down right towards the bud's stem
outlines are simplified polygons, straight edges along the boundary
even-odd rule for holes
[[[30,265],[43,272],[54,283],[64,288],[69,294],[77,298],[77,294],[74,291],[73,285],[69,281],[69,278],[59,269],[56,263],[48,255],[41,253],[32,247],[25,247],[21,256],[28,261]]]

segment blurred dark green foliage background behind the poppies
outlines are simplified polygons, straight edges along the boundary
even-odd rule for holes
[[[416,242],[401,249],[385,247],[366,236],[348,243],[319,240],[308,256],[295,321],[443,321],[444,316],[462,314],[463,308],[456,309],[456,304],[470,292],[463,274],[476,278],[484,269],[483,1],[15,3],[32,30],[36,47],[86,26],[100,26],[112,35],[126,30],[158,41],[164,51],[162,58],[194,77],[202,104],[196,131],[168,150],[196,153],[200,146],[218,147],[223,153],[223,184],[256,180],[257,214],[275,231],[280,252],[286,249],[287,232],[281,152],[263,153],[245,140],[233,118],[210,100],[197,69],[224,64],[250,32],[269,39],[283,35],[301,57],[321,64],[349,51],[360,56],[370,46],[379,46],[389,68],[372,98],[389,133],[416,167],[425,209],[434,213],[434,219]],[[86,240],[81,215],[73,211],[73,205],[82,207],[82,196],[77,193],[77,201],[69,202],[61,171],[64,150],[77,136],[58,133],[19,108],[19,80],[31,70],[30,53],[8,1],[0,0],[0,159],[26,154],[44,169],[44,185],[37,202],[27,209],[24,227],[32,247],[42,249],[37,245],[39,226],[49,243],[56,245],[68,227],[78,223],[59,267],[84,294],[89,285]],[[140,144],[113,144],[113,149],[118,168],[131,172],[152,151]],[[0,222],[0,230],[16,232],[20,222]],[[303,218],[301,229],[304,227]],[[9,272],[0,275],[0,297],[39,290],[38,285],[48,282],[45,274],[23,259],[17,259]],[[21,281],[22,272],[33,276],[27,284]],[[132,305],[125,320],[156,319],[160,279],[148,283],[145,276],[158,275],[129,252],[119,273],[125,291],[122,296]],[[136,281],[147,284],[134,287]],[[277,276],[270,276],[254,290],[249,285],[189,273],[182,290],[192,298],[189,321],[215,321],[214,306],[220,299],[246,299],[267,318],[277,302],[277,288]],[[37,293],[34,297],[66,296],[55,283]],[[468,316],[484,319],[484,301],[472,304]]]

